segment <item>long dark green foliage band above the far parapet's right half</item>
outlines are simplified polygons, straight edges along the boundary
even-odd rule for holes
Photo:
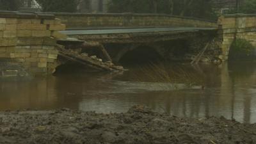
[[[217,19],[210,0],[112,0],[109,3],[109,12],[166,13],[202,19]]]

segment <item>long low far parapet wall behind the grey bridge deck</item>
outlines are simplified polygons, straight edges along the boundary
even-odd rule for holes
[[[173,15],[134,13],[52,13],[61,19],[67,28],[104,27],[202,27],[216,28],[216,22],[177,17]]]

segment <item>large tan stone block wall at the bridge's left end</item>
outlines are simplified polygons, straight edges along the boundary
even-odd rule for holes
[[[52,72],[58,51],[56,38],[65,25],[54,15],[0,12],[0,61],[22,65],[33,74]]]

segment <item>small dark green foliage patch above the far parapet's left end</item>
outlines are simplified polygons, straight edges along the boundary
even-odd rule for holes
[[[76,12],[77,0],[36,0],[43,12]]]

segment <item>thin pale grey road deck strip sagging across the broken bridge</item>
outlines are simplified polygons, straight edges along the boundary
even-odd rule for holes
[[[61,31],[65,35],[106,35],[122,33],[157,33],[168,31],[212,31],[218,28],[118,28],[118,29],[80,29]]]

